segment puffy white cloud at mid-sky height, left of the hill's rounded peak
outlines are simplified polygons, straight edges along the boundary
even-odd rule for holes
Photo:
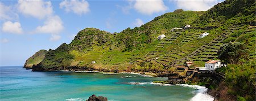
[[[44,22],[43,26],[39,26],[36,28],[36,32],[58,34],[63,29],[63,22],[61,21],[59,16],[55,15],[48,17]]]

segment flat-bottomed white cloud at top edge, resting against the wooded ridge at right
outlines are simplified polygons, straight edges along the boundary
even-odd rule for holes
[[[207,11],[221,0],[176,0],[178,8],[191,11]]]

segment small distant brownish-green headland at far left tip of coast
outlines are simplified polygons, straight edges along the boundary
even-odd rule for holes
[[[26,63],[24,64],[24,68],[32,69],[33,65],[38,65],[40,62],[42,62],[46,53],[47,53],[47,50],[40,50],[36,52],[33,56],[31,56],[26,60]]]

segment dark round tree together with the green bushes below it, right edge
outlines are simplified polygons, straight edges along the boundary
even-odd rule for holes
[[[237,96],[237,100],[255,100],[255,61],[249,60],[249,50],[240,42],[224,44],[218,51],[222,63],[228,64],[217,70],[225,74],[225,86],[228,94]],[[221,98],[225,99],[225,98]]]

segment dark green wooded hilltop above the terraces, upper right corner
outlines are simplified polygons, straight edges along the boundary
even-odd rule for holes
[[[195,23],[202,26],[218,26],[219,23],[225,23],[226,20],[234,16],[241,18],[234,20],[233,23],[251,23],[251,21],[255,20],[255,4],[254,0],[226,0],[210,8]]]

